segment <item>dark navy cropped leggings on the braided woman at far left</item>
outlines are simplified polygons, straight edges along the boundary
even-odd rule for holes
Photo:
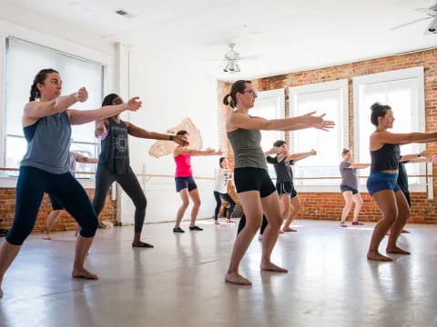
[[[32,232],[44,193],[50,193],[65,207],[83,237],[94,237],[97,214],[82,185],[71,173],[47,173],[42,169],[21,166],[16,183],[15,218],[6,235],[8,243],[21,245]]]

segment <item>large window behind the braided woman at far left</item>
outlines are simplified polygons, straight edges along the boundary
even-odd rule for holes
[[[101,105],[103,97],[103,65],[35,45],[15,37],[6,39],[5,85],[5,167],[16,168],[25,154],[26,142],[21,118],[29,98],[30,86],[36,73],[43,68],[54,68],[62,76],[63,94],[71,94],[85,86],[88,99],[75,104],[75,109],[93,109]],[[94,124],[72,126],[71,151],[97,156]],[[78,165],[77,170],[95,171],[93,164]],[[9,172],[7,175],[16,175]],[[79,177],[83,177],[80,175]]]

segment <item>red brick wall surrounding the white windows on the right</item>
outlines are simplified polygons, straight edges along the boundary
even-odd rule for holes
[[[285,114],[290,114],[290,103],[288,88],[305,84],[329,82],[340,79],[349,80],[349,148],[353,151],[353,87],[352,78],[363,74],[375,74],[391,70],[410,68],[416,66],[424,67],[424,90],[425,90],[425,129],[427,132],[437,131],[437,50],[421,51],[414,54],[393,55],[378,59],[366,60],[351,64],[314,69],[310,71],[281,74],[266,78],[253,80],[252,84],[258,91],[284,89],[285,92]],[[219,94],[219,140],[223,149],[229,148],[229,141],[223,125],[226,121],[229,108],[221,103],[224,94],[229,93],[229,83],[218,83]],[[220,98],[221,96],[221,98]],[[290,134],[286,134],[286,140],[290,141]],[[437,153],[437,144],[427,144],[427,150]],[[233,154],[229,156],[229,163],[233,163]],[[432,173],[437,173],[437,166],[434,165]],[[433,185],[434,194],[437,186]],[[237,198],[235,190],[229,190]],[[299,187],[298,187],[299,192]],[[361,220],[377,221],[381,213],[368,193],[363,193],[364,206],[361,211]],[[339,193],[300,193],[302,213],[300,218],[340,220],[341,210],[344,205],[342,196]],[[412,219],[415,223],[437,223],[437,201],[427,199],[426,193],[412,193]]]

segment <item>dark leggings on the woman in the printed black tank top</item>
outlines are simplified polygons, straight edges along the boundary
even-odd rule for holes
[[[127,193],[127,196],[135,205],[135,233],[141,233],[144,219],[146,217],[147,200],[138,182],[137,176],[129,167],[127,174],[110,173],[107,167],[97,165],[96,172],[96,193],[94,194],[93,205],[97,216],[102,212],[107,198],[107,191],[111,184],[117,182]]]

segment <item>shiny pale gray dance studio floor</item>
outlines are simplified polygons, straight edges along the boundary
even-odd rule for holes
[[[375,263],[370,223],[297,221],[273,255],[288,274],[259,272],[253,241],[241,265],[251,287],[223,280],[237,226],[199,225],[145,225],[155,249],[132,249],[133,227],[98,230],[86,264],[97,282],[69,277],[72,233],[32,235],[5,275],[0,326],[437,326],[435,225],[408,225],[400,244],[412,255]]]

